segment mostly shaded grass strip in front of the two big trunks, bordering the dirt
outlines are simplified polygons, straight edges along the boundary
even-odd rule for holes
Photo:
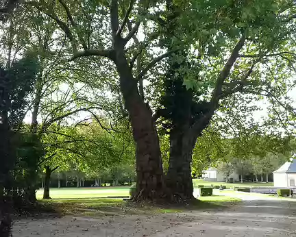
[[[60,215],[109,216],[114,214],[164,214],[210,208],[225,208],[240,199],[211,196],[201,197],[190,205],[153,205],[152,203],[132,203],[122,199],[51,199],[39,200],[45,210]]]

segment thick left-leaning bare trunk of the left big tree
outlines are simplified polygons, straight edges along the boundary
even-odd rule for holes
[[[137,80],[125,58],[121,40],[114,41],[114,62],[120,77],[120,88],[125,108],[130,114],[134,141],[136,142],[137,184],[134,201],[155,200],[164,197],[164,179],[160,145],[152,112],[138,93]]]

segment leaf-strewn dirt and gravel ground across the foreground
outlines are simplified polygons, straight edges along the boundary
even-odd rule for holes
[[[14,223],[14,237],[296,236],[295,221],[295,202],[254,200],[223,210],[21,220]]]

